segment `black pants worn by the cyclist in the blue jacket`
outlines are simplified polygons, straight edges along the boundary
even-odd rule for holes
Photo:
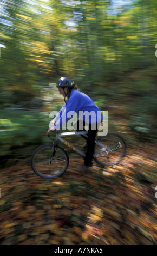
[[[83,123],[83,125],[81,125],[81,129],[79,129],[79,124],[80,122]],[[81,123],[81,124],[82,124]],[[81,121],[80,119],[78,119],[74,124],[74,129],[76,131],[85,131],[84,127],[86,124]],[[92,164],[92,159],[93,159],[93,154],[94,154],[94,149],[95,149],[95,137],[96,137],[96,132],[97,132],[97,124],[89,124],[88,125],[88,138],[86,138],[85,136],[81,135],[84,139],[87,140],[87,151],[86,151],[86,156],[84,157],[84,164],[86,166],[91,166]]]

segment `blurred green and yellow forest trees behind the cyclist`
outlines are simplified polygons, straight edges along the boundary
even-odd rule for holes
[[[119,131],[121,120],[131,142],[156,136],[156,1],[0,4],[4,162],[45,140],[49,114],[64,102],[55,90],[61,76],[108,111],[109,131]]]

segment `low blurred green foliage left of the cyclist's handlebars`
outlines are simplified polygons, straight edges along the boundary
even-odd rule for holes
[[[25,111],[10,110],[3,114],[6,118],[0,119],[1,156],[10,155],[11,157],[14,149],[44,143],[49,119],[45,118],[43,113],[30,112],[27,114]],[[18,154],[20,153],[18,152]]]

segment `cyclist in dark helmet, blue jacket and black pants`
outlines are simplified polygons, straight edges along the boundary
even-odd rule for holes
[[[84,163],[78,169],[79,172],[86,172],[88,168],[92,166],[97,127],[99,127],[103,119],[101,110],[89,96],[79,92],[77,85],[69,78],[61,77],[57,81],[56,87],[58,88],[59,93],[63,95],[65,104],[56,117],[50,121],[50,129],[48,131],[60,130],[60,127],[72,118],[67,117],[68,112],[74,111],[77,113],[78,120],[73,124],[74,129],[82,131],[85,130],[83,126],[88,126],[88,138],[82,135],[82,137],[87,139],[87,142],[84,144],[84,147],[87,147],[86,156],[84,158]],[[67,101],[65,100],[66,97]],[[82,116],[82,113],[85,114]],[[86,114],[88,118],[86,118]]]

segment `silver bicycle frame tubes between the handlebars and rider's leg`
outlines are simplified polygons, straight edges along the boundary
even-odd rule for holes
[[[81,131],[81,132],[56,132],[56,142],[60,141],[63,144],[67,145],[69,148],[73,149],[75,152],[77,152],[78,154],[80,154],[82,157],[85,157],[85,154],[83,151],[81,151],[80,149],[77,149],[76,147],[74,147],[74,145],[70,144],[68,141],[66,141],[66,139],[63,139],[62,137],[66,137],[69,135],[84,135],[85,137],[87,137],[87,131]]]

